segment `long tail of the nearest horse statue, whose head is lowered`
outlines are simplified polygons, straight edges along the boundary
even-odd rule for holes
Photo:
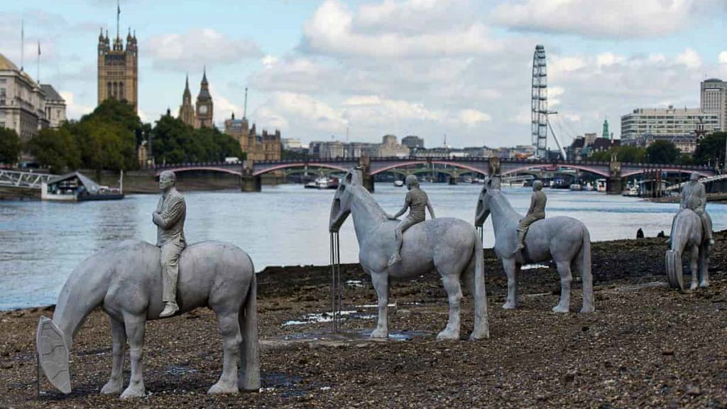
[[[250,261],[252,267],[252,260]],[[260,389],[260,341],[257,336],[257,274],[254,268],[252,279],[247,289],[247,297],[243,311],[240,311],[240,329],[243,336],[240,356],[244,375],[239,381],[239,388],[246,391]]]

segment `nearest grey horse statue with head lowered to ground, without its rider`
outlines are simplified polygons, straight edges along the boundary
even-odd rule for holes
[[[61,392],[71,393],[68,354],[86,317],[101,307],[111,318],[113,364],[101,393],[117,394],[122,379],[126,341],[131,355],[131,380],[122,399],[146,393],[142,378],[145,325],[158,319],[161,302],[159,249],[126,240],[90,256],[76,267],[58,295],[53,319],[41,317],[36,335],[41,368]],[[224,357],[222,376],[210,394],[260,389],[257,338],[257,282],[249,255],[229,243],[201,242],[180,258],[177,285],[179,314],[208,306],[217,314]],[[175,334],[184,338],[183,333]],[[242,355],[244,374],[238,376]]]

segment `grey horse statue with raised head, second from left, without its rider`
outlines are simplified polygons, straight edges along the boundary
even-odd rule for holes
[[[394,231],[398,221],[387,219],[384,210],[364,188],[361,170],[348,172],[338,187],[331,206],[330,231],[339,231],[353,216],[358,239],[358,259],[371,276],[378,297],[379,317],[371,338],[387,338],[389,279],[417,277],[436,270],[442,277],[449,300],[449,321],[437,339],[459,339],[460,279],[475,299],[475,325],[470,339],[489,337],[484,261],[480,236],[469,223],[455,218],[435,218],[417,223],[403,234],[401,262],[387,266],[395,250]]]

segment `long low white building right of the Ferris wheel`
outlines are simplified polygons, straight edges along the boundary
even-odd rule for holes
[[[696,135],[720,129],[718,114],[694,108],[637,108],[621,117],[621,139]]]

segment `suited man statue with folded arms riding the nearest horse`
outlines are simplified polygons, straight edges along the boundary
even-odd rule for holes
[[[159,317],[170,317],[179,311],[177,305],[177,275],[182,250],[187,246],[184,237],[184,221],[187,216],[187,205],[184,197],[174,187],[177,177],[171,170],[159,175],[159,189],[164,192],[156,211],[152,213],[152,221],[157,226],[156,245],[161,247],[162,301],[164,311]]]

